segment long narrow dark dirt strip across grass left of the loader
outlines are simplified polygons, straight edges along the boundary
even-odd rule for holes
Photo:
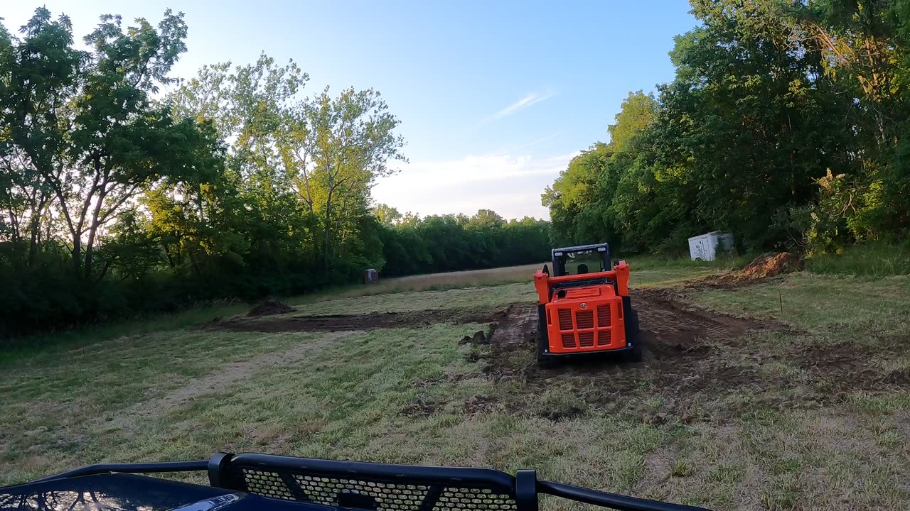
[[[465,308],[359,315],[283,316],[265,319],[232,317],[219,321],[212,327],[242,332],[343,332],[378,328],[415,328],[438,324],[493,323],[502,321],[510,314],[511,306],[493,312],[489,309]],[[480,341],[480,337],[477,340]],[[485,338],[482,340],[486,342]]]

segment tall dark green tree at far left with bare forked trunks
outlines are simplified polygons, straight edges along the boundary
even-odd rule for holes
[[[186,50],[187,27],[170,11],[156,26],[117,16],[74,47],[66,16],[39,8],[22,37],[4,32],[2,157],[16,195],[7,207],[15,237],[25,231],[29,261],[37,240],[66,235],[74,275],[93,277],[104,227],[159,179],[217,165],[210,130],[175,119],[150,95]]]

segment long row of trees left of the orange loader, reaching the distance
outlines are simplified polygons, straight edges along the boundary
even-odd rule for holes
[[[386,275],[536,262],[548,223],[400,215],[379,92],[268,55],[178,80],[183,15],[102,16],[80,49],[45,8],[0,25],[0,336]]]

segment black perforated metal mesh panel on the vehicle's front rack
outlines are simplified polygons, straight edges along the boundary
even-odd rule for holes
[[[515,499],[487,487],[405,485],[368,478],[268,472],[235,467],[234,485],[249,493],[378,511],[515,511]]]

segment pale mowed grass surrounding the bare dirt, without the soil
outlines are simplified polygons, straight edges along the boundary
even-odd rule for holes
[[[704,273],[645,268],[637,284],[669,286]],[[685,293],[698,306],[793,327],[751,339],[768,350],[893,343],[905,339],[910,319],[907,277],[796,274]],[[495,309],[534,300],[525,282],[329,299],[302,304],[298,314]],[[484,327],[275,334],[191,327],[22,357],[0,367],[0,485],[101,461],[228,450],[530,466],[562,482],[718,509],[910,504],[905,386],[840,389],[815,406],[762,398],[775,389],[732,390],[706,396],[689,414],[698,418],[683,420],[662,414],[672,404],[661,395],[627,406],[586,403],[580,396],[610,389],[584,387],[583,375],[552,378],[539,395],[519,380],[490,378],[488,348],[458,344]],[[479,361],[471,362],[472,352]],[[875,364],[898,376],[910,367],[906,357]],[[763,370],[801,377],[786,360]],[[724,411],[731,405],[735,414]],[[554,416],[560,409],[571,413]]]

